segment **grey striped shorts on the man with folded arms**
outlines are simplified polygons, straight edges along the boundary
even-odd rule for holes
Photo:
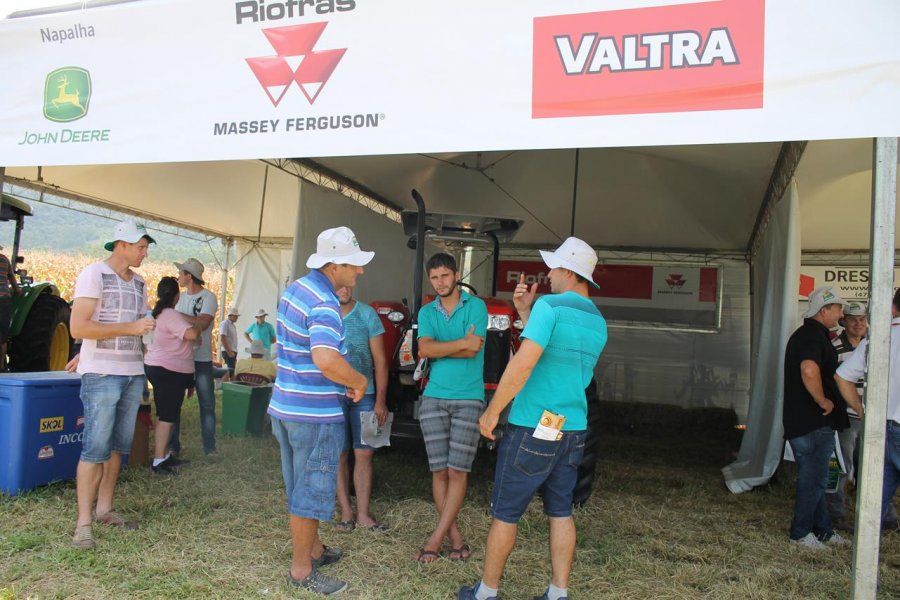
[[[466,473],[472,470],[481,437],[478,419],[483,410],[481,400],[422,397],[419,425],[432,472],[447,468]]]

